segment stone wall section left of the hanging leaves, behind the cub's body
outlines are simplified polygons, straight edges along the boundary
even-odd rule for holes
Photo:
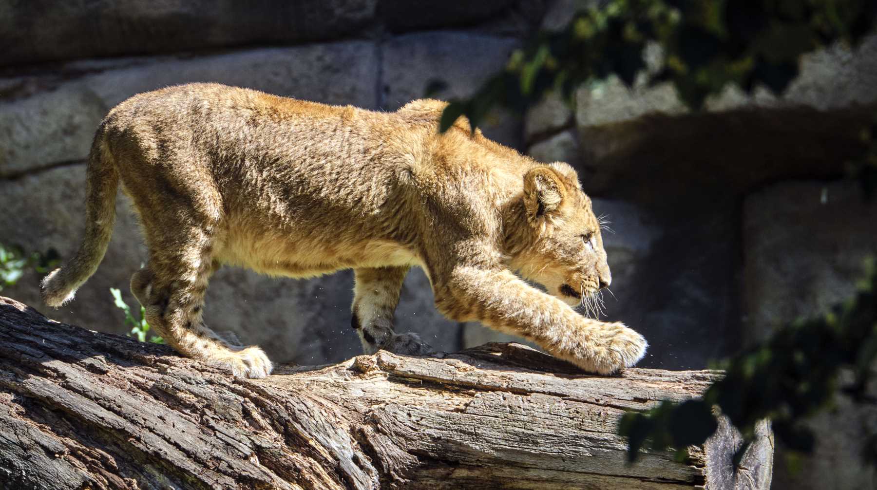
[[[281,96],[395,110],[424,95],[466,96],[503,67],[538,25],[545,3],[497,0],[419,3],[162,2],[133,0],[0,6],[0,242],[69,258],[82,236],[85,159],[103,116],[146,90],[222,82]],[[416,7],[416,8],[415,8]],[[86,34],[87,33],[87,34]],[[485,128],[521,148],[519,119]],[[125,331],[110,288],[136,305],[131,274],[146,260],[125,197],[98,272],[67,306],[46,311],[92,328]],[[4,290],[40,305],[39,276]],[[350,329],[353,274],[311,281],[269,279],[226,267],[212,279],[205,318],[260,344],[279,362],[337,362],[360,352]],[[45,311],[45,308],[44,308]],[[417,330],[433,347],[460,349],[463,325],[432,305],[424,273],[406,279],[397,329]]]

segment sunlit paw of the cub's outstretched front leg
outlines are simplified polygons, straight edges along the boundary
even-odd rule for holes
[[[634,366],[648,347],[645,337],[624,323],[601,323],[577,333],[560,357],[592,373],[611,374]]]

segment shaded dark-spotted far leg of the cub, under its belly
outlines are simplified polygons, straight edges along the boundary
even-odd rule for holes
[[[393,316],[408,267],[358,268],[354,273],[351,326],[360,334],[363,350],[367,354],[379,349],[397,354],[430,352],[430,345],[417,334],[397,334],[393,330]]]

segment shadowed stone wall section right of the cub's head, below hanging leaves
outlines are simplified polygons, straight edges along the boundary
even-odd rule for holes
[[[874,87],[877,35],[806,55],[779,97],[729,87],[694,114],[669,85],[613,77],[581,87],[574,110],[548,99],[530,111],[527,151],[575,162],[595,212],[620,218],[609,315],[649,339],[642,366],[702,367],[852,295],[877,255],[877,202],[843,177]],[[809,426],[816,453],[787,465],[778,447],[774,488],[877,487],[860,463],[877,408],[838,399]]]

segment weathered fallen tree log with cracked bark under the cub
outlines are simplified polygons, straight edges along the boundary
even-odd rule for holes
[[[695,397],[719,375],[602,377],[486,344],[240,380],[0,297],[0,488],[766,489],[766,424],[737,468],[724,421],[688,461],[625,463],[624,410]]]

